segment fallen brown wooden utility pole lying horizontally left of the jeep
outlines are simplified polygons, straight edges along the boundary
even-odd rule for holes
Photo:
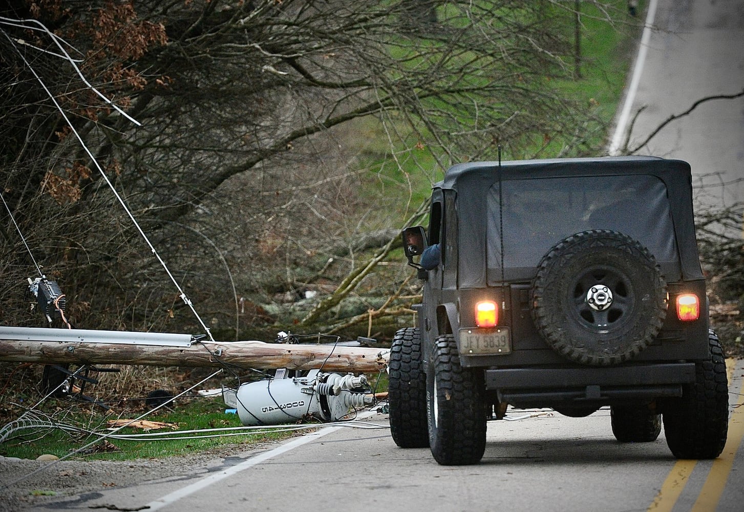
[[[0,361],[77,365],[187,366],[192,368],[287,368],[370,372],[385,368],[380,349],[333,344],[285,345],[259,341],[161,343],[158,333],[0,327]],[[57,332],[50,332],[57,331]],[[74,333],[72,332],[74,331]],[[80,336],[84,333],[84,336]],[[106,333],[121,339],[98,336]],[[127,334],[129,342],[126,342]],[[150,335],[142,339],[142,335]],[[32,336],[32,337],[29,337]],[[50,340],[51,336],[56,339]],[[174,336],[165,334],[164,336]],[[183,335],[181,335],[183,336]],[[42,338],[42,339],[39,339]],[[85,341],[79,341],[83,339]],[[122,341],[124,340],[124,341]]]

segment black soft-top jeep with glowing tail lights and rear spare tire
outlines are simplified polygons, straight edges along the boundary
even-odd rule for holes
[[[458,164],[433,187],[428,231],[405,228],[403,246],[423,299],[388,366],[399,447],[475,464],[507,406],[609,406],[618,441],[655,441],[663,423],[677,458],[722,451],[728,380],[687,162]]]

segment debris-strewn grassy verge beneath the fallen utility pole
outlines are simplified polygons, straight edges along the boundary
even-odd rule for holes
[[[1,456],[35,459],[54,455],[71,460],[126,461],[217,450],[224,453],[324,426],[318,421],[306,421],[246,429],[221,395],[202,396],[196,392],[202,388],[214,390],[212,386],[234,386],[235,376],[221,374],[182,394],[208,375],[199,369],[128,366],[121,373],[93,374],[99,380],[97,384],[88,384],[80,393],[50,397],[36,406],[41,395],[33,383],[39,378],[39,369],[22,366],[7,380],[3,371],[6,387],[0,397],[0,436],[4,438],[0,443]],[[239,380],[246,378],[250,377]],[[373,392],[385,391],[387,375],[369,375],[368,383]],[[160,406],[148,398],[153,391],[159,397],[176,399]],[[384,402],[380,405],[384,406]],[[24,415],[30,409],[33,413]],[[348,419],[354,417],[350,412]],[[18,418],[22,420],[16,421]],[[135,421],[131,426],[124,426],[132,420]],[[131,435],[135,438],[122,438]]]

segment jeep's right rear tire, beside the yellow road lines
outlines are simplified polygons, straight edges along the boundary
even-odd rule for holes
[[[711,359],[696,364],[696,380],[682,398],[664,404],[664,435],[676,458],[716,458],[728,435],[728,376],[716,333],[708,333]]]

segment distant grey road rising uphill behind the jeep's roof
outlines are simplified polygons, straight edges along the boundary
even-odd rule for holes
[[[647,22],[656,30],[644,33],[638,74],[629,84],[629,103],[611,152],[622,147],[628,132],[628,147],[633,150],[670,116],[682,115],[697,101],[744,92],[744,1],[641,4],[649,7]],[[702,205],[744,201],[744,96],[700,103],[689,115],[667,124],[636,154],[689,161]]]

